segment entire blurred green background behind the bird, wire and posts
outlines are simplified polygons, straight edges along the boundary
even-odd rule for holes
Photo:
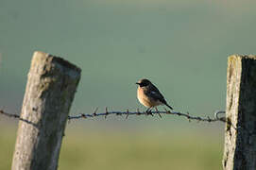
[[[147,77],[178,111],[225,110],[227,58],[256,54],[253,0],[0,0],[0,107],[19,113],[35,50],[82,69],[71,114],[144,110]],[[162,110],[162,107],[159,108]],[[0,169],[9,169],[17,122],[0,116]],[[221,169],[223,124],[175,117],[72,122],[60,169]]]

